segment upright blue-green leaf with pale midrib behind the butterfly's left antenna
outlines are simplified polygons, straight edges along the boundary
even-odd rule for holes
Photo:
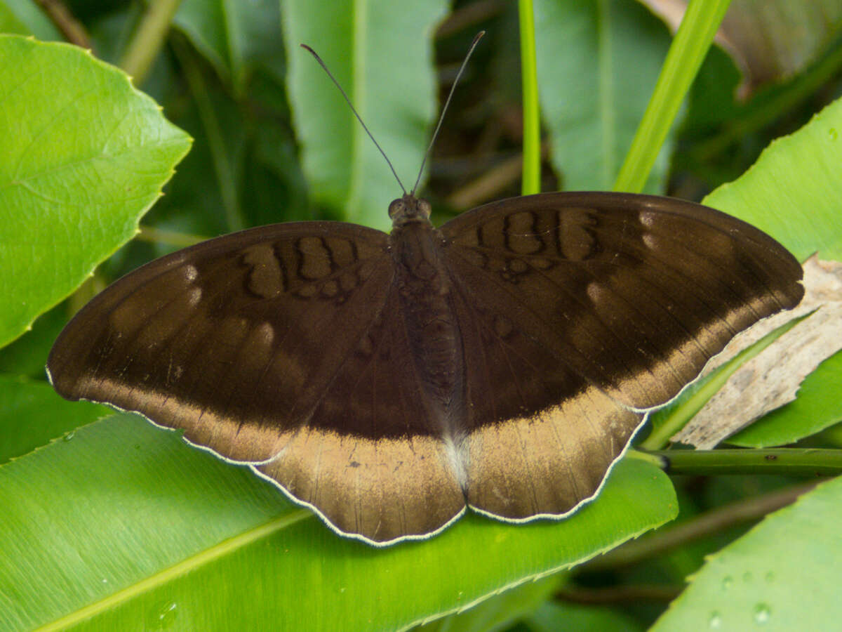
[[[383,157],[301,43],[322,56],[409,190],[434,118],[432,50],[424,34],[444,0],[282,3],[288,86],[312,201],[349,222],[387,230],[400,195]]]

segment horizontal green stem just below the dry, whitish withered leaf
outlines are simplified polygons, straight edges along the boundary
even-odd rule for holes
[[[650,454],[664,459],[669,474],[842,474],[842,450],[829,448],[661,450]]]

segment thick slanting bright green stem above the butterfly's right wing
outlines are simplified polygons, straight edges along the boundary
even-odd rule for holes
[[[626,154],[614,190],[643,190],[658,150],[701,67],[730,0],[690,0],[658,76],[643,119]]]

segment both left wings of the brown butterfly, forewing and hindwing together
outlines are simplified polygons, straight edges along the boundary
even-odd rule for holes
[[[386,239],[305,222],[155,260],[67,325],[52,382],[255,463],[340,533],[373,544],[424,537],[465,499],[407,370]]]

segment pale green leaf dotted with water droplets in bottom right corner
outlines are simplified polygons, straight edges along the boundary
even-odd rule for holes
[[[819,485],[711,555],[653,632],[838,629],[842,478]]]

